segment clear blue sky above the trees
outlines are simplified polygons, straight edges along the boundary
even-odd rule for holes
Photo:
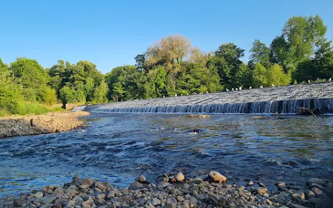
[[[247,61],[252,42],[271,44],[292,16],[320,15],[333,39],[332,0],[0,0],[0,8],[3,62],[26,57],[51,67],[88,60],[103,73],[135,64],[135,55],[173,34],[206,52],[234,42]]]

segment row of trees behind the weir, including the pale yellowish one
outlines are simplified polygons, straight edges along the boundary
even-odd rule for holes
[[[325,81],[333,76],[333,52],[326,31],[318,15],[291,17],[270,46],[253,42],[248,64],[241,61],[245,50],[233,43],[205,53],[182,35],[166,37],[137,55],[135,66],[117,67],[106,74],[109,99]]]

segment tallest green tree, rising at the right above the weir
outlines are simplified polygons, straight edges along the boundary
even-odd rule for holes
[[[315,17],[291,17],[282,29],[282,35],[271,44],[271,61],[280,64],[292,75],[298,64],[309,60],[326,42],[327,26]]]

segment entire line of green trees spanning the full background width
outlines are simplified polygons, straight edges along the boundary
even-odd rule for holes
[[[245,50],[233,43],[205,53],[186,37],[172,35],[137,55],[134,66],[116,67],[105,76],[87,61],[60,60],[43,69],[27,58],[9,66],[0,60],[0,112],[25,114],[34,111],[29,106],[56,102],[105,103],[325,81],[333,76],[326,31],[318,15],[291,17],[270,46],[253,42],[248,63],[241,61]]]

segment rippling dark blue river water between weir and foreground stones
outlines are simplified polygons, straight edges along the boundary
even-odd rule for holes
[[[70,182],[71,177],[128,186],[171,171],[216,170],[230,182],[304,184],[333,174],[333,116],[105,114],[89,127],[0,140],[0,196]],[[198,133],[193,130],[198,130]],[[283,179],[282,179],[283,177]]]

